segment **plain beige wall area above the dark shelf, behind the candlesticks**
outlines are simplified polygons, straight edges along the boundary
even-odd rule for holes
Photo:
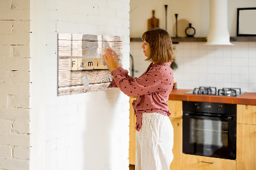
[[[147,20],[152,17],[152,10],[156,11],[155,17],[159,19],[159,27],[165,29],[165,4],[168,5],[167,31],[170,36],[175,36],[175,13],[179,14],[178,20],[188,20],[195,27],[196,37],[207,36],[210,17],[209,0],[131,0],[131,37],[141,37],[147,31]],[[237,8],[255,6],[255,0],[228,0],[228,31],[230,36],[236,36]]]

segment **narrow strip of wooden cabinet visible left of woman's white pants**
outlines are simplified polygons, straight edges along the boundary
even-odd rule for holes
[[[134,116],[134,109],[132,107],[135,97],[130,98],[130,125],[129,125],[129,164],[135,165],[136,161],[136,117]]]

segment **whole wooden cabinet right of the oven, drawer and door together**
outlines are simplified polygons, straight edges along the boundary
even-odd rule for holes
[[[237,105],[237,170],[256,169],[256,105]]]

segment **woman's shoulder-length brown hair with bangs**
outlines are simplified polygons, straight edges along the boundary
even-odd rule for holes
[[[164,29],[152,29],[142,35],[142,40],[150,45],[150,56],[145,61],[166,63],[175,61],[172,39]]]

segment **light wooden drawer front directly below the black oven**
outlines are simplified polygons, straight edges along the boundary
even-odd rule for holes
[[[182,170],[236,170],[236,160],[182,154]]]

